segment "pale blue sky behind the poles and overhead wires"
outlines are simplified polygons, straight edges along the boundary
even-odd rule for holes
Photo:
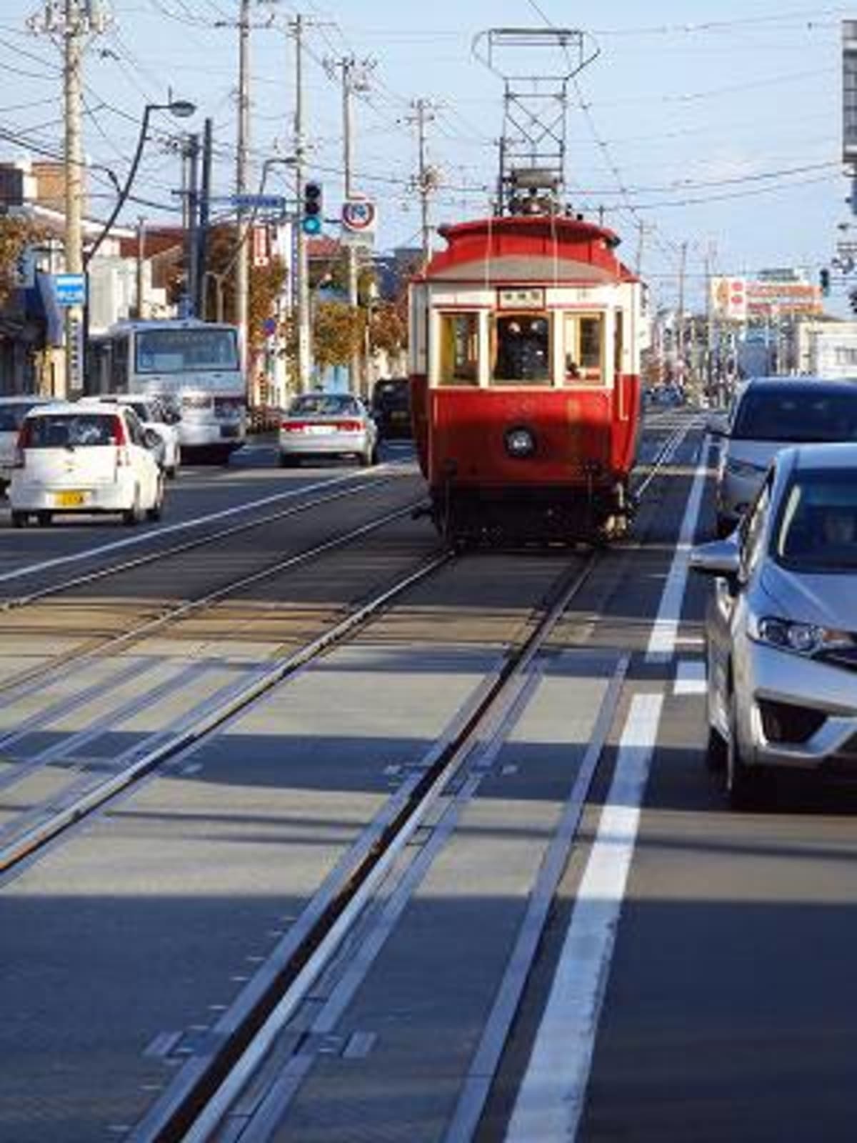
[[[43,7],[43,3],[42,3]],[[86,61],[86,150],[118,175],[136,141],[146,101],[168,88],[193,99],[216,122],[217,186],[233,179],[238,0],[112,0],[113,27]],[[0,9],[0,128],[6,155],[27,142],[62,147],[59,55],[26,32],[38,0]],[[782,0],[648,5],[615,0],[256,0],[253,32],[253,149],[257,163],[293,146],[294,47],[285,25],[296,11],[314,22],[306,35],[307,126],[313,173],[328,214],[342,195],[342,117],[326,58],[374,62],[369,90],[355,105],[357,186],[378,201],[379,246],[413,243],[419,213],[409,179],[416,169],[410,102],[436,105],[430,161],[444,185],[433,221],[476,216],[496,177],[495,139],[502,86],[471,55],[488,27],[574,22],[592,33],[599,58],[579,77],[569,105],[568,185],[578,209],[603,207],[633,262],[646,222],[643,273],[659,301],[674,301],[679,247],[688,243],[691,299],[700,296],[703,258],[720,272],[804,265],[831,257],[836,224],[849,218],[841,149],[841,19],[846,8]],[[217,24],[227,26],[216,26]],[[233,26],[229,26],[229,25]],[[267,25],[267,26],[265,26]],[[582,110],[585,103],[587,113]],[[159,119],[166,133],[176,123]],[[280,168],[277,189],[286,174]],[[162,138],[147,147],[137,191],[169,217],[178,160]],[[94,183],[95,213],[110,185]],[[135,207],[133,214],[143,208]],[[839,306],[833,303],[834,310]]]

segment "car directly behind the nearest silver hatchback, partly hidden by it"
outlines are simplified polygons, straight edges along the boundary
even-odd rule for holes
[[[857,385],[815,377],[746,382],[726,418],[708,430],[722,437],[716,533],[728,535],[755,499],[772,457],[788,445],[857,440]]]

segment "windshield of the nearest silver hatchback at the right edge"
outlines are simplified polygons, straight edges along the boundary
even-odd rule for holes
[[[798,473],[774,545],[777,561],[793,572],[857,570],[857,470]]]

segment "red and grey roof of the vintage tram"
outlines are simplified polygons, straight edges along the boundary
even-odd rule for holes
[[[440,234],[447,249],[432,257],[417,280],[486,280],[486,275],[492,282],[639,280],[616,256],[616,232],[583,218],[504,215],[441,226]]]

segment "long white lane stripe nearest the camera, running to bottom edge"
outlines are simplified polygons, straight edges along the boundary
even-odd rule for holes
[[[663,702],[636,695],[631,704],[506,1143],[568,1143],[577,1134]]]

